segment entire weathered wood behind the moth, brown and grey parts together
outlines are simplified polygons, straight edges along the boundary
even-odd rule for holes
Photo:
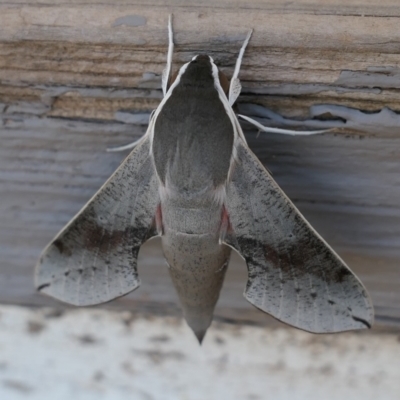
[[[242,109],[291,118],[269,121],[276,125],[344,126],[307,138],[246,131],[365,282],[377,321],[400,325],[400,122],[382,111],[400,111],[397,1],[198,3],[0,1],[0,302],[60,304],[34,293],[33,266],[125,156],[106,147],[143,134],[161,98],[172,11],[176,66],[208,52],[229,75],[253,27]],[[107,306],[177,313],[157,242],[141,252],[139,271],[142,287]],[[242,298],[245,279],[236,258],[217,315],[266,321]]]

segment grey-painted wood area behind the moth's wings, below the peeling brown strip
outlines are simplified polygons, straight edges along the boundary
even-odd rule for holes
[[[39,253],[124,158],[106,153],[145,128],[27,118],[1,130],[0,301],[60,305],[34,293]],[[344,135],[292,138],[248,135],[249,144],[309,221],[359,274],[378,322],[400,321],[399,140]],[[141,252],[143,286],[111,306],[176,313],[177,301],[160,244]],[[244,263],[236,257],[219,316],[265,321],[242,297]]]

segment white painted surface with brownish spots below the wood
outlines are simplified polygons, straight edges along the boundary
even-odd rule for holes
[[[0,399],[399,399],[396,334],[0,306]]]

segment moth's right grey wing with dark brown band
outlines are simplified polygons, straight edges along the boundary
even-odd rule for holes
[[[315,332],[370,328],[364,286],[305,220],[245,144],[227,187],[231,233],[246,260],[246,299],[275,318]]]

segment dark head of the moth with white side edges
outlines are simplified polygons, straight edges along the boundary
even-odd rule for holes
[[[229,80],[214,63],[212,57],[201,54],[194,56],[192,61],[183,65],[175,72],[168,84],[168,88],[179,77],[179,84],[184,86],[206,86],[210,83],[219,84],[226,95],[229,92]],[[217,81],[217,82],[215,82]]]

